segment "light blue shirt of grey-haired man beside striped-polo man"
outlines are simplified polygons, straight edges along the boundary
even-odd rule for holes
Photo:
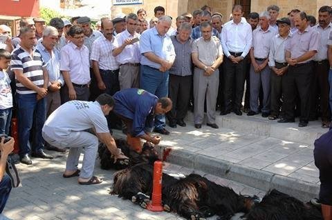
[[[64,86],[64,78],[60,73],[60,54],[57,49],[53,49],[52,57],[50,57],[50,53],[46,50],[42,41],[36,46],[37,50],[39,50],[40,54],[42,54],[42,59],[44,63],[46,63],[46,69],[48,72],[49,81],[59,81],[61,86]]]

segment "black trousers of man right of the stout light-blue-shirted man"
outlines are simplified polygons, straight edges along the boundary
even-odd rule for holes
[[[172,100],[172,110],[167,112],[168,121],[175,122],[185,118],[192,88],[192,75],[181,77],[169,74],[168,96]]]

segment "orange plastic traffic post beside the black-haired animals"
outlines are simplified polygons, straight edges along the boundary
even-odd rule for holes
[[[161,206],[161,181],[163,177],[163,163],[161,161],[154,162],[154,186],[152,190],[152,201],[147,204],[147,210],[152,212],[163,212]]]

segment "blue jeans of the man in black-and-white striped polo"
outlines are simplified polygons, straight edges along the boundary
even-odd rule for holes
[[[42,128],[46,120],[46,100],[39,99],[37,94],[17,94],[18,123],[19,123],[19,154],[29,154],[30,132],[33,128],[33,150],[35,152],[44,148],[44,139],[42,137]],[[34,127],[33,127],[34,126]]]

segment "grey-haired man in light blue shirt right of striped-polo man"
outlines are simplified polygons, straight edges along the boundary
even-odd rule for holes
[[[57,29],[48,26],[44,29],[42,41],[39,41],[36,48],[42,54],[42,59],[46,64],[48,72],[48,92],[46,94],[46,117],[54,110],[61,106],[60,88],[64,86],[64,79],[60,73],[60,55],[59,51],[55,48],[57,37],[59,33]],[[55,150],[58,152],[65,152],[63,148],[57,148],[45,143],[45,149]]]

